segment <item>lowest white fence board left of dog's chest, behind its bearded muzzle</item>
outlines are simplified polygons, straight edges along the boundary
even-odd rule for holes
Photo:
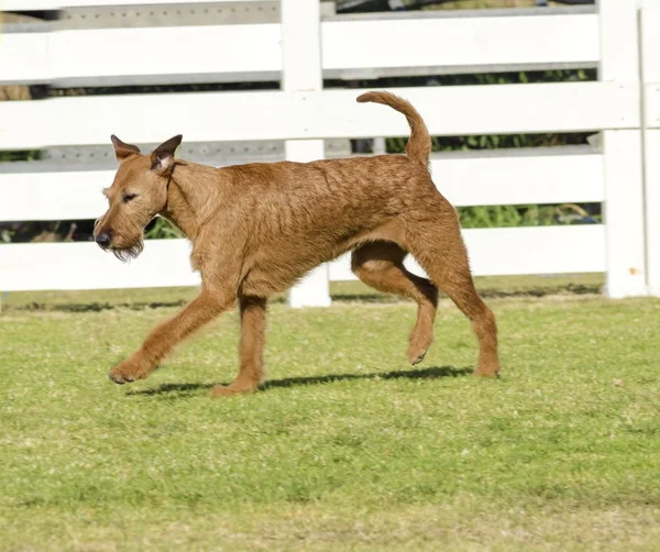
[[[124,264],[91,242],[0,246],[0,290],[109,289],[198,285],[185,240],[150,240]]]

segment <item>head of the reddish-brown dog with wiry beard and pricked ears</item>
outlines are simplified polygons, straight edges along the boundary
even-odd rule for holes
[[[108,211],[95,224],[95,241],[102,250],[112,251],[121,261],[142,252],[145,227],[167,203],[174,152],[182,137],[174,136],[142,155],[138,146],[111,136],[119,169],[112,186],[103,190]]]

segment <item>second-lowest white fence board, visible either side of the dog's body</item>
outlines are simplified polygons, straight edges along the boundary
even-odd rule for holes
[[[532,151],[431,161],[436,185],[454,206],[603,201],[602,167],[595,154]],[[107,208],[101,189],[113,177],[114,170],[0,173],[0,221],[96,219]]]

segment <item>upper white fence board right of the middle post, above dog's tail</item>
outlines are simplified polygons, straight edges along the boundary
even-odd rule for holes
[[[595,14],[328,21],[323,68],[595,63]]]

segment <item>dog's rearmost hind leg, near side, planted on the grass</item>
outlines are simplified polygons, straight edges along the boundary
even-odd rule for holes
[[[461,228],[455,214],[436,221],[415,221],[407,233],[407,245],[438,289],[470,319],[479,340],[475,375],[499,373],[495,316],[474,288]]]

